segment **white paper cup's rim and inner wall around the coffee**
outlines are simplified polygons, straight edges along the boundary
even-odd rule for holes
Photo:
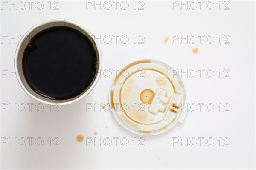
[[[94,76],[91,84],[87,87],[87,89],[85,89],[79,95],[77,95],[73,98],[65,99],[65,100],[52,100],[49,98],[45,98],[45,97],[39,95],[38,93],[36,93],[33,89],[30,88],[29,84],[27,83],[27,81],[23,75],[23,71],[22,71],[23,70],[23,68],[22,68],[23,53],[24,53],[24,50],[25,50],[26,46],[28,45],[29,41],[38,32],[41,32],[44,29],[48,29],[48,28],[54,27],[54,26],[71,27],[73,29],[78,30],[82,34],[86,35],[87,38],[93,44],[93,48],[96,51],[96,57],[97,57],[96,75]],[[44,103],[44,104],[65,105],[65,104],[71,104],[75,101],[80,100],[81,98],[88,95],[92,91],[92,89],[96,85],[97,81],[99,80],[100,71],[102,69],[102,54],[101,54],[99,45],[96,41],[96,38],[84,26],[82,26],[79,23],[76,23],[74,21],[67,20],[67,19],[52,19],[52,20],[44,21],[42,23],[38,23],[37,25],[35,25],[31,29],[29,29],[28,32],[26,32],[26,34],[23,36],[22,40],[20,40],[20,43],[17,46],[16,52],[15,52],[14,67],[15,67],[15,73],[16,73],[17,79],[20,83],[20,86],[30,97],[32,97],[35,100],[37,100],[41,103]]]

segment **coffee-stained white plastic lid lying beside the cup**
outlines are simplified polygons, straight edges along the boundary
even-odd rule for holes
[[[165,63],[141,60],[116,76],[110,102],[116,120],[127,130],[155,135],[171,129],[185,103],[180,77]]]

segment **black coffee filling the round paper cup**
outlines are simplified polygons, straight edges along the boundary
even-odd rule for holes
[[[92,83],[97,57],[91,41],[76,29],[56,26],[36,34],[23,54],[23,74],[39,95],[73,98]]]

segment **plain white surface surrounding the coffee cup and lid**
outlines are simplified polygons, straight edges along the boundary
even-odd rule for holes
[[[3,1],[2,1],[3,2]],[[2,3],[1,2],[1,3]],[[1,169],[255,169],[256,164],[256,109],[255,109],[255,82],[256,82],[256,3],[254,0],[228,1],[230,10],[219,9],[218,1],[213,1],[214,9],[206,8],[200,4],[195,10],[172,9],[172,1],[143,1],[144,10],[134,10],[133,1],[128,1],[129,8],[123,10],[120,2],[117,9],[101,10],[98,6],[87,6],[85,1],[58,1],[51,3],[42,1],[43,9],[38,10],[35,2],[32,9],[26,1],[15,9],[15,6],[1,6],[0,34],[1,34],[1,114],[0,136],[15,140],[33,137],[32,146],[29,140],[25,146],[12,142],[3,143],[0,147]],[[92,1],[94,3],[94,1]],[[112,1],[111,1],[112,2]],[[12,1],[15,3],[15,1]],[[99,2],[98,2],[99,3]],[[103,2],[104,3],[104,2]],[[178,1],[179,3],[179,1]],[[185,2],[183,2],[185,3]],[[58,4],[58,10],[52,10]],[[108,4],[105,4],[108,5]],[[138,4],[138,8],[142,3]],[[192,5],[192,4],[191,4]],[[9,7],[11,9],[9,9]],[[88,8],[87,8],[88,7]],[[108,6],[105,6],[108,8]],[[125,5],[124,5],[125,7]],[[193,8],[193,6],[191,6]],[[209,4],[209,7],[210,4]],[[38,4],[40,8],[40,4]],[[30,98],[18,84],[14,72],[14,55],[17,42],[11,40],[25,32],[41,21],[66,18],[82,24],[97,38],[102,35],[119,35],[117,42],[108,44],[108,39],[99,42],[103,55],[103,70],[122,69],[127,64],[140,59],[156,59],[174,69],[212,69],[213,78],[207,78],[203,72],[202,78],[198,72],[196,78],[182,75],[186,89],[188,103],[212,103],[215,108],[208,112],[203,107],[198,107],[195,112],[189,112],[183,124],[176,124],[171,130],[161,135],[140,136],[125,130],[118,124],[111,112],[101,112],[89,109],[87,103],[108,103],[109,89],[114,75],[110,78],[99,79],[93,91],[80,101],[67,106],[59,107],[59,112],[48,111],[43,105],[43,111],[35,109],[37,101]],[[127,35],[129,41],[122,43],[120,37]],[[143,35],[144,44],[136,42],[134,35]],[[185,41],[172,43],[172,35],[212,35],[215,40],[212,44],[203,42],[192,44]],[[230,44],[220,44],[219,35],[230,36]],[[3,38],[8,37],[8,40]],[[169,41],[164,44],[164,39]],[[17,38],[16,38],[17,39]],[[125,40],[125,39],[124,39]],[[192,49],[198,48],[198,54],[193,54]],[[10,70],[9,70],[10,69]],[[219,78],[219,69],[229,69],[230,78]],[[3,72],[8,70],[8,74]],[[10,75],[9,75],[10,73]],[[28,104],[34,104],[29,111]],[[222,111],[217,106],[222,104]],[[228,103],[230,112],[223,112],[223,104]],[[9,107],[4,109],[3,104],[26,104],[27,108],[14,108],[9,112]],[[21,106],[21,105],[20,105]],[[199,105],[198,105],[199,106]],[[38,107],[40,108],[40,107]],[[105,128],[108,126],[108,128]],[[98,135],[93,135],[94,132]],[[100,146],[99,143],[89,144],[86,141],[76,142],[78,134],[84,137],[127,137],[128,146],[122,146],[120,139],[117,146]],[[44,139],[42,146],[35,144],[35,138]],[[47,138],[59,138],[59,146],[48,146]],[[132,139],[143,137],[145,146],[134,146]],[[205,139],[202,146],[198,143],[191,146],[185,143],[175,143],[172,138],[211,137],[213,146],[207,146]],[[219,146],[218,138],[222,138]],[[223,138],[230,138],[228,144],[223,146]],[[113,141],[112,141],[113,142]],[[23,143],[23,142],[22,142]],[[192,142],[192,144],[194,141]],[[210,142],[209,142],[210,143]],[[52,145],[52,143],[51,143]]]

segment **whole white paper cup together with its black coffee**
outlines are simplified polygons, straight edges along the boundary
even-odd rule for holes
[[[93,55],[88,53],[88,48]],[[86,62],[92,61],[90,67]],[[83,98],[96,85],[101,68],[102,55],[94,35],[66,19],[47,20],[32,27],[15,52],[15,72],[20,86],[45,104],[64,105]]]

